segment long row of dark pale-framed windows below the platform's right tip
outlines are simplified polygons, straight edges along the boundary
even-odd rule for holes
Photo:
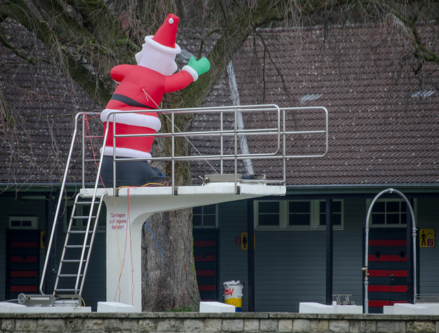
[[[333,226],[342,229],[343,201],[333,200]],[[256,229],[326,229],[326,200],[254,202]]]

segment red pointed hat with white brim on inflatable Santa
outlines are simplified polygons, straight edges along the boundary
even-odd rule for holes
[[[180,17],[168,14],[156,34],[145,37],[145,43],[167,54],[179,54],[181,49],[176,44],[178,21],[180,21]]]

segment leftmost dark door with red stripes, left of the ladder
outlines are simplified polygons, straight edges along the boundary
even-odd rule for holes
[[[38,230],[8,230],[6,243],[6,299],[16,299],[23,292],[38,293]]]

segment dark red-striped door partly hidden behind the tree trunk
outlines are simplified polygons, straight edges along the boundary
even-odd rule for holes
[[[193,257],[202,301],[217,300],[217,231],[193,230]]]

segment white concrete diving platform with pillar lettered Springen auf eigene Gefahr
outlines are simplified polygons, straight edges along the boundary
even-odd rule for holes
[[[97,198],[105,199],[106,220],[106,299],[108,301],[120,295],[121,303],[132,304],[135,312],[142,311],[141,277],[141,230],[147,218],[152,214],[185,209],[195,206],[214,205],[235,200],[258,198],[260,196],[284,196],[285,186],[239,185],[235,183],[212,183],[206,186],[175,187],[121,187],[113,196],[109,188],[97,189]],[[236,190],[236,191],[235,191]],[[93,197],[94,189],[81,189],[83,198]],[[236,194],[235,194],[236,193]],[[115,212],[117,211],[117,216]],[[128,227],[130,226],[130,227]],[[118,246],[112,246],[117,244]],[[127,249],[123,254],[121,251]],[[131,257],[123,271],[115,257]],[[114,272],[117,272],[115,274]],[[126,283],[121,284],[124,281]]]

